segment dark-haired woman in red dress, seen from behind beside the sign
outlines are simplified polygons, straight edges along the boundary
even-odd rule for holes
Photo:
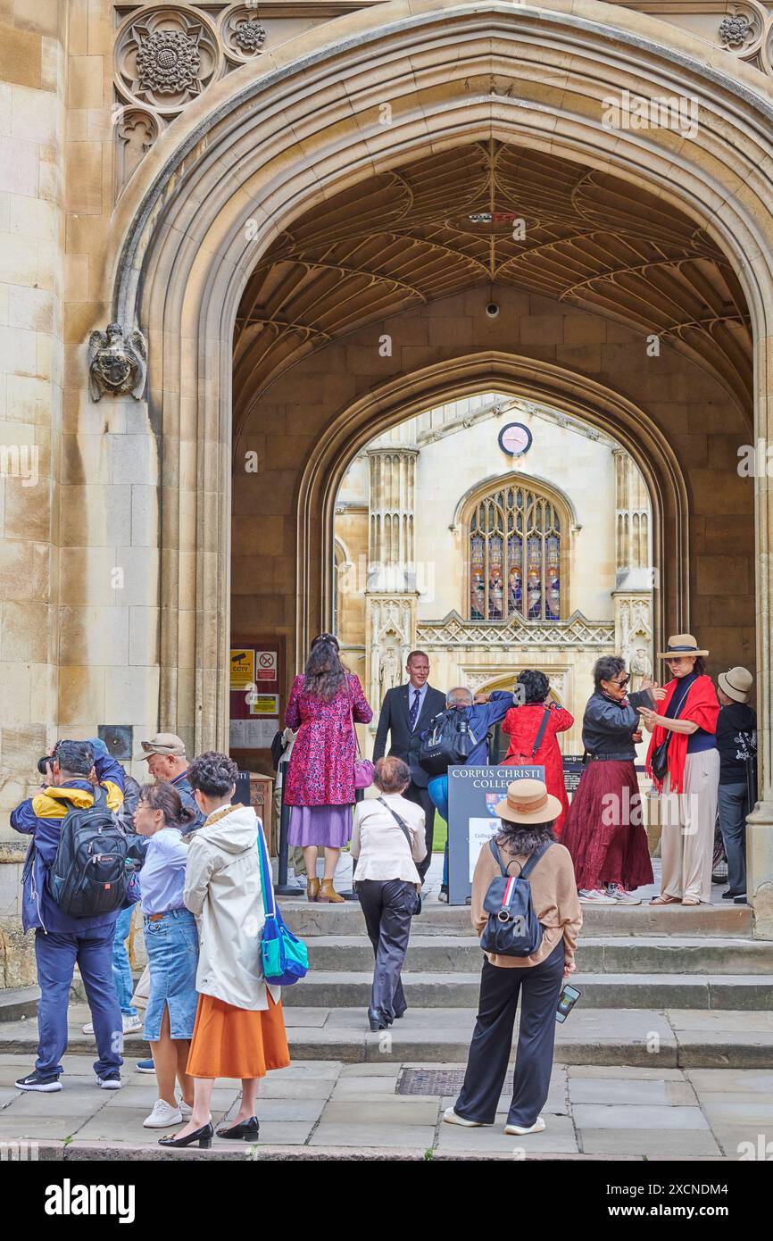
[[[563,783],[563,761],[561,750],[556,741],[556,733],[566,732],[574,724],[574,716],[565,711],[555,702],[546,705],[545,700],[550,694],[550,681],[545,673],[537,673],[531,668],[522,671],[515,686],[515,701],[519,706],[512,706],[503,720],[503,732],[509,733],[510,746],[505,755],[507,766],[519,767],[538,766],[545,768],[545,783],[547,792],[552,793],[561,802],[563,809],[553,824],[553,833],[558,835],[563,827],[570,802],[566,795]],[[547,711],[547,725],[542,733],[540,748],[532,755],[540,726]]]

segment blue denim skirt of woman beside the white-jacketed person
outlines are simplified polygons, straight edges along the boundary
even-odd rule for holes
[[[170,910],[154,922],[145,917],[143,930],[150,967],[150,997],[143,1037],[149,1042],[159,1041],[166,1005],[171,1037],[191,1039],[199,1004],[196,918],[190,910]]]

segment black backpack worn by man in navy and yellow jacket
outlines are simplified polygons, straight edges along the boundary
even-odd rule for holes
[[[62,822],[60,844],[48,870],[48,892],[71,918],[94,918],[120,910],[127,900],[129,840],[108,809],[107,794],[94,789],[88,807],[72,802]]]

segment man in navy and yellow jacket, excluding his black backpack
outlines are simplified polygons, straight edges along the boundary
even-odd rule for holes
[[[97,757],[94,748],[102,751]],[[113,934],[120,911],[73,918],[58,908],[48,892],[48,870],[71,804],[93,804],[92,773],[105,791],[108,808],[120,809],[124,791],[120,763],[99,742],[60,741],[51,784],[11,812],[11,827],[32,836],[22,874],[22,926],[25,931],[35,930],[41,989],[37,1060],[34,1072],[16,1082],[19,1090],[48,1093],[62,1088],[61,1061],[67,1049],[67,1005],[76,963],[94,1023],[99,1057],[94,1072],[104,1090],[120,1088],[123,1025],[113,980]]]

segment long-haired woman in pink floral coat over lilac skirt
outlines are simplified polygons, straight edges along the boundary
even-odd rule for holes
[[[290,807],[289,844],[303,849],[310,901],[342,901],[333,886],[339,855],[351,836],[355,800],[355,737],[351,719],[373,717],[359,676],[347,673],[333,634],[311,643],[303,676],[293,681],[284,722],[298,728],[285,776]],[[325,850],[325,876],[316,877],[318,850]]]

